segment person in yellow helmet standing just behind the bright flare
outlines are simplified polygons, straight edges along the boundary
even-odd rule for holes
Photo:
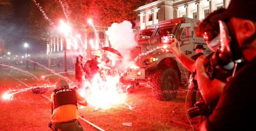
[[[85,79],[88,79],[90,82],[91,82],[91,79],[93,79],[94,75],[99,71],[98,60],[100,59],[100,57],[101,57],[101,53],[97,52],[93,59],[90,59],[85,62],[83,71],[85,72]]]

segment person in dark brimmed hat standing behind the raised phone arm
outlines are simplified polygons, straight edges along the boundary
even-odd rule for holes
[[[196,61],[198,57],[200,57],[201,55],[204,55],[204,49],[205,49],[204,45],[197,44],[197,47],[194,49],[194,51],[196,51],[196,54],[191,56],[191,59]],[[190,76],[189,89],[191,90],[191,97],[190,97],[190,101],[189,101],[190,108],[194,107],[194,104],[197,102],[198,85],[197,85],[197,80],[195,80],[193,77],[193,75],[195,75],[195,74],[196,74],[196,72],[189,72],[189,76]],[[193,82],[193,84],[191,82]],[[200,93],[198,93],[198,94],[199,94],[199,97],[201,97]]]

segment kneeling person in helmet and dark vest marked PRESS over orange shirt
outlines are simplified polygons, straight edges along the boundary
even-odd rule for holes
[[[84,131],[78,121],[78,105],[87,105],[87,101],[75,89],[70,89],[67,81],[60,79],[51,95],[52,115],[49,127],[53,130]],[[53,127],[52,127],[53,126]]]

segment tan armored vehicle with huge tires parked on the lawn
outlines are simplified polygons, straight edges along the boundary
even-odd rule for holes
[[[141,30],[138,45],[131,54],[139,68],[128,69],[124,74],[124,79],[132,82],[130,90],[140,85],[150,86],[156,99],[175,99],[180,84],[186,82],[189,71],[165,47],[172,42],[174,35],[178,40],[180,52],[188,56],[195,54],[193,49],[197,44],[204,44],[207,48],[204,50],[205,55],[211,53],[204,39],[195,34],[195,27],[198,24],[198,20],[179,17],[149,25]]]

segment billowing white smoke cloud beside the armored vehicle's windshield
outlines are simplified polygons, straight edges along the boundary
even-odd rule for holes
[[[122,23],[113,23],[106,31],[106,35],[109,36],[111,47],[118,50],[124,57],[123,64],[129,63],[130,50],[137,45],[132,23],[126,20]]]

